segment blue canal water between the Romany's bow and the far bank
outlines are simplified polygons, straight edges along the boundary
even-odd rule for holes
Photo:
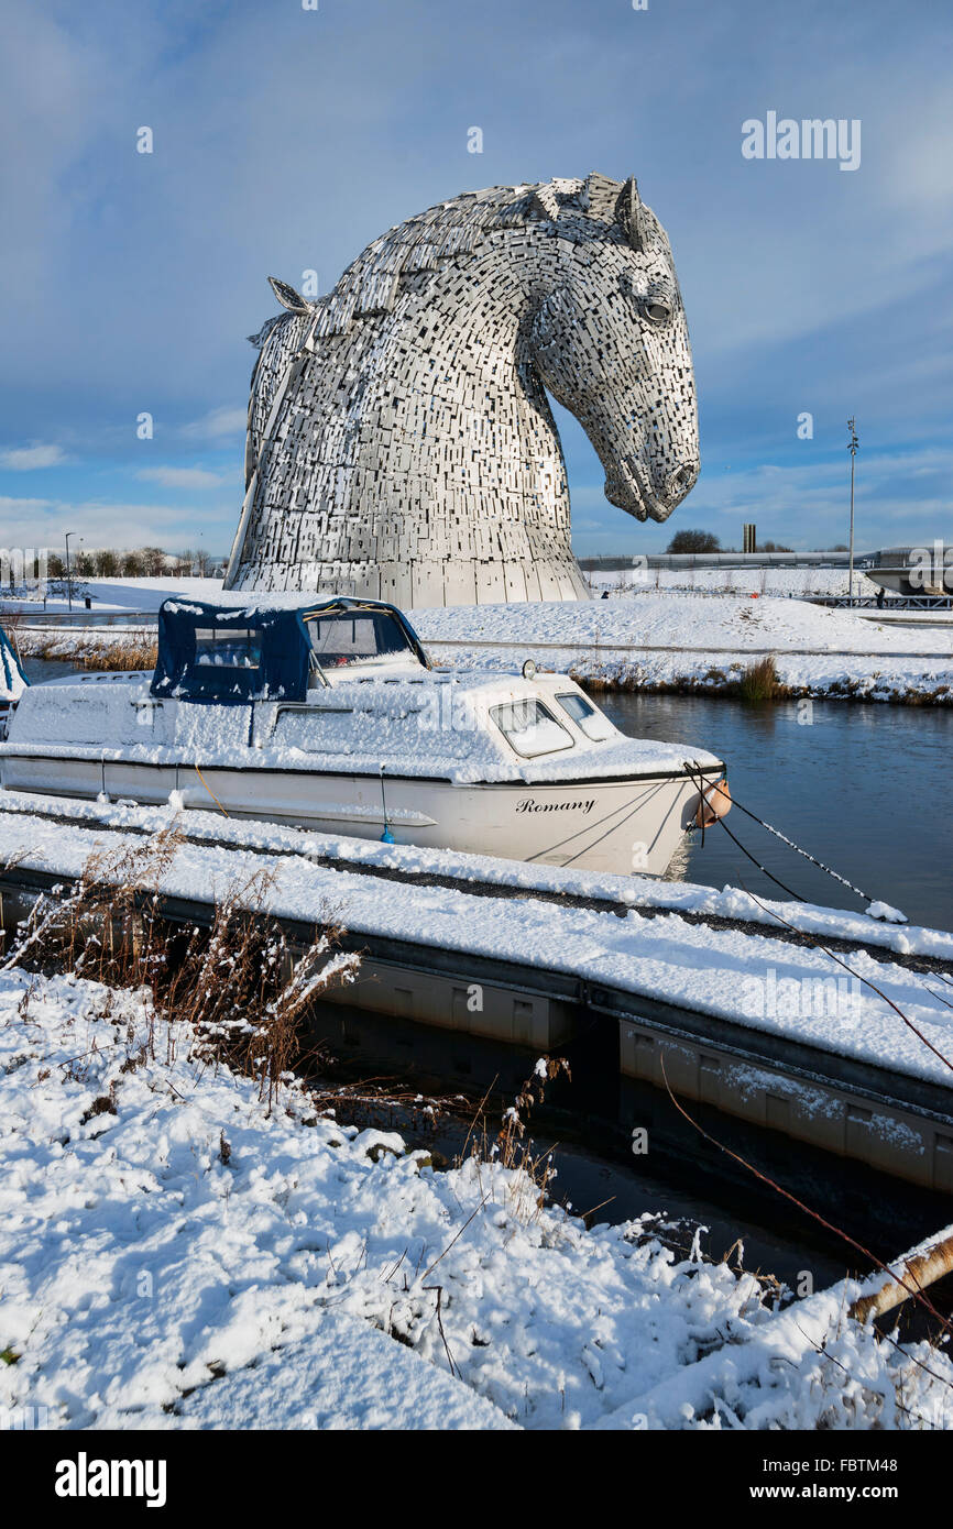
[[[953,708],[815,700],[805,709],[603,691],[594,699],[623,732],[717,754],[736,801],[912,924],[953,930]],[[864,907],[742,812],[728,826],[799,898]],[[701,833],[690,836],[667,879],[785,896],[717,824],[704,844]]]

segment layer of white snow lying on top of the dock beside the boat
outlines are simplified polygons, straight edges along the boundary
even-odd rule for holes
[[[150,824],[154,829],[164,824],[168,830],[179,820],[174,806],[138,809],[122,804],[101,807],[96,803],[76,810],[75,823],[67,823],[23,812],[32,800],[14,792],[0,794],[3,852],[23,870],[52,872],[57,878],[83,875],[95,856],[96,875],[102,881],[109,881],[110,875],[124,879],[128,872],[122,867],[128,856],[139,853],[147,865],[150,847],[148,839],[124,832],[122,826]],[[46,806],[55,803],[47,801]],[[70,804],[70,815],[76,806]],[[526,968],[529,983],[538,982],[540,968],[572,974],[584,982],[685,1006],[838,1057],[950,1086],[950,1005],[929,974],[889,959],[890,951],[898,951],[948,960],[953,934],[942,930],[880,924],[864,914],[809,904],[762,901],[759,908],[737,888],[719,893],[572,868],[545,867],[540,872],[537,867],[442,850],[369,846],[367,841],[337,835],[295,835],[294,830],[269,829],[266,824],[225,823],[219,830],[219,823],[223,820],[205,813],[187,815],[187,832],[194,824],[202,838],[181,842],[156,870],[158,891],[199,902],[222,902],[233,896],[242,902],[248,898],[252,907],[274,917],[314,924],[323,924],[332,910],[355,937],[384,936],[424,951],[436,943],[462,956],[514,962]],[[214,836],[205,841],[203,829]],[[281,853],[281,849],[288,852]],[[378,859],[381,852],[387,858]],[[434,884],[367,875],[369,865],[381,864],[433,868]],[[110,872],[110,865],[118,870]],[[441,884],[441,867],[453,875],[454,884]],[[453,867],[460,867],[459,878]],[[269,872],[269,882],[259,902],[249,898],[246,888],[255,884],[263,868]],[[493,879],[496,875],[503,882],[500,894],[483,888],[485,894],[477,898],[468,891],[468,881],[480,876]],[[566,891],[589,888],[583,896],[607,898],[620,905],[638,904],[644,898],[649,907],[644,911],[632,907],[626,917],[616,917],[612,910],[560,907],[532,894],[506,894],[514,885],[523,885],[531,893],[537,875],[545,887]],[[647,916],[652,910],[659,911]],[[743,928],[713,928],[679,916],[716,913],[748,919],[756,910],[763,919],[763,933],[759,934]],[[872,946],[849,956],[852,979],[849,1000],[844,994],[847,1001],[821,1001],[825,983],[831,983],[837,968],[823,948],[772,937],[776,913],[802,930],[857,939]],[[873,954],[877,946],[884,951],[883,960]],[[766,989],[766,972],[774,972],[777,989]]]

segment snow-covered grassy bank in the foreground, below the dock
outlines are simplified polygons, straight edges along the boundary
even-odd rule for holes
[[[14,1425],[953,1425],[953,1365],[849,1321],[857,1286],[777,1313],[516,1170],[437,1173],[297,1084],[269,1113],[142,989],[2,969],[0,1098]]]

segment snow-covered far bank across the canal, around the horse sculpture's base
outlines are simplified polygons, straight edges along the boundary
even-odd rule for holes
[[[615,575],[603,578],[615,590]],[[788,598],[840,590],[844,581],[841,569],[664,569],[604,601],[457,605],[415,610],[411,621],[434,656],[456,665],[508,670],[532,654],[581,680],[717,694],[754,657],[772,654],[794,694],[953,703],[953,624],[899,627]],[[154,610],[167,595],[200,598],[219,587],[214,579],[99,579],[95,609]],[[17,639],[24,656],[60,659],[122,641],[109,627],[21,628]]]

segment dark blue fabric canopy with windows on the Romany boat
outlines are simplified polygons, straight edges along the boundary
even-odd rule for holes
[[[427,656],[405,616],[375,599],[333,595],[233,596],[225,604],[173,598],[159,607],[153,696],[216,705],[307,699],[312,673]],[[320,683],[320,680],[318,680]]]

